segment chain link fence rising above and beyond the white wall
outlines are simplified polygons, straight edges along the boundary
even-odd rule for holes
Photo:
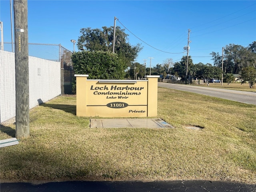
[[[11,42],[4,42],[4,50],[14,52],[15,45]],[[72,52],[61,44],[36,44],[28,43],[28,55],[61,64],[61,92],[62,94],[72,94],[72,79],[74,70],[71,62]]]

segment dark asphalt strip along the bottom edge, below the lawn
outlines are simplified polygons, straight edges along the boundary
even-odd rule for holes
[[[256,192],[256,184],[222,181],[67,181],[1,183],[1,192]]]

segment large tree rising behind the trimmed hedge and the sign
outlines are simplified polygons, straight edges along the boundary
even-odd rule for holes
[[[113,38],[114,27],[102,27],[91,29],[82,28],[80,30],[81,36],[78,38],[77,46],[80,50],[84,48],[88,51],[108,51],[113,50]],[[128,42],[128,34],[124,32],[119,26],[116,27],[116,39],[115,39],[115,53],[121,58],[126,66],[131,66],[132,62],[137,58],[138,53],[142,50],[140,44],[131,46]]]

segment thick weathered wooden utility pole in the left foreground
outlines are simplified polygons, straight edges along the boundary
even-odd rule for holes
[[[16,138],[29,137],[28,1],[14,0]]]

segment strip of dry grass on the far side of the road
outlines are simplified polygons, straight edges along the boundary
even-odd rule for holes
[[[196,86],[204,86],[207,87],[207,84],[204,83],[203,85],[196,85]],[[222,88],[222,89],[230,89],[230,90],[238,90],[238,91],[248,91],[248,92],[256,92],[256,85],[253,88],[250,88],[248,83],[241,84],[241,83],[209,83],[209,87],[214,87],[214,88]]]

